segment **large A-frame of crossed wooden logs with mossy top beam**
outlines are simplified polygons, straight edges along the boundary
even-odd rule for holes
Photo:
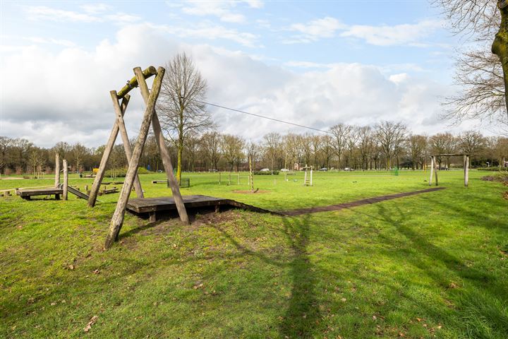
[[[111,129],[111,134],[109,136],[106,148],[104,149],[97,176],[95,177],[92,189],[90,190],[88,206],[95,206],[97,194],[99,193],[99,187],[101,185],[102,179],[104,178],[104,172],[106,171],[106,164],[109,160],[109,155],[111,155],[111,150],[113,150],[116,136],[118,136],[119,132],[123,141],[123,148],[125,149],[127,155],[128,169],[126,177],[123,181],[119,201],[116,203],[116,209],[114,211],[113,217],[111,218],[111,224],[109,225],[109,232],[107,234],[106,242],[104,243],[104,249],[109,249],[109,247],[111,247],[116,239],[118,239],[118,235],[123,224],[123,218],[126,212],[128,198],[133,187],[138,198],[143,198],[143,189],[141,188],[137,172],[141,154],[143,153],[145,141],[150,129],[150,124],[152,125],[153,133],[155,135],[155,142],[157,143],[157,149],[159,150],[159,153],[162,157],[162,164],[164,165],[164,170],[166,171],[167,179],[169,180],[169,185],[171,186],[171,191],[173,193],[180,220],[184,223],[189,222],[186,208],[183,205],[183,198],[180,193],[179,184],[176,182],[173,174],[173,165],[171,165],[169,150],[166,147],[164,136],[162,135],[159,117],[157,117],[157,112],[155,111],[155,105],[157,103],[157,98],[159,97],[164,73],[165,69],[162,67],[155,69],[155,67],[150,66],[145,69],[145,71],[142,71],[140,67],[136,67],[134,69],[135,76],[127,82],[127,84],[119,91],[119,93],[116,93],[116,90],[111,90],[110,92],[116,119],[113,124],[113,129]],[[146,79],[150,78],[151,76],[155,76],[155,78],[152,83],[152,90],[150,91],[148,89]],[[138,135],[138,140],[136,141],[134,149],[132,150],[131,143],[128,140],[125,122],[123,121],[123,114],[126,112],[130,99],[130,95],[128,95],[128,93],[133,88],[138,86],[140,88],[141,95],[143,96],[143,100],[145,101],[146,108]],[[119,100],[121,100],[121,102]]]

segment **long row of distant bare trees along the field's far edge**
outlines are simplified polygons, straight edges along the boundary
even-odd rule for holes
[[[176,162],[178,148],[171,146]],[[468,153],[473,166],[497,166],[508,160],[508,138],[485,137],[477,131],[458,136],[437,133],[433,136],[410,133],[404,124],[382,121],[375,126],[337,124],[323,134],[267,133],[260,141],[246,141],[241,136],[207,131],[189,135],[183,145],[183,171],[239,171],[248,168],[251,157],[256,169],[295,169],[301,165],[336,169],[389,169],[425,167],[430,154]],[[38,176],[51,173],[54,153],[66,158],[73,172],[90,171],[99,165],[104,145],[87,148],[76,143],[56,143],[53,148],[39,148],[23,138],[0,136],[0,173]],[[440,167],[453,165],[452,157],[438,157]],[[460,163],[460,161],[457,161]],[[157,144],[149,137],[141,160],[152,171],[163,168]],[[296,165],[298,164],[298,165]],[[121,145],[116,145],[109,168],[127,166]]]

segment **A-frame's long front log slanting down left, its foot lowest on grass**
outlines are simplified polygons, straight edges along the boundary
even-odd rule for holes
[[[153,81],[152,93],[150,93],[150,97],[148,97],[147,100],[147,106],[145,109],[145,114],[143,116],[143,123],[141,124],[140,132],[138,134],[138,141],[136,142],[136,145],[134,147],[133,155],[131,157],[131,163],[129,164],[126,177],[123,181],[119,201],[116,204],[116,209],[114,211],[113,218],[111,218],[111,224],[109,225],[109,233],[106,237],[106,242],[104,242],[104,249],[109,249],[113,245],[113,242],[118,238],[118,234],[123,225],[123,217],[125,216],[129,194],[131,194],[131,189],[134,183],[134,177],[136,172],[138,171],[141,153],[143,153],[143,147],[145,145],[145,141],[148,136],[148,131],[150,130],[150,123],[152,122],[152,118],[155,113],[155,104],[157,102],[157,98],[159,97],[164,72],[165,70],[162,67],[159,67],[159,69],[157,70],[157,76],[155,76],[155,79]],[[141,74],[141,78],[142,79],[138,78],[138,81],[145,80],[145,78],[143,78],[143,74]]]

